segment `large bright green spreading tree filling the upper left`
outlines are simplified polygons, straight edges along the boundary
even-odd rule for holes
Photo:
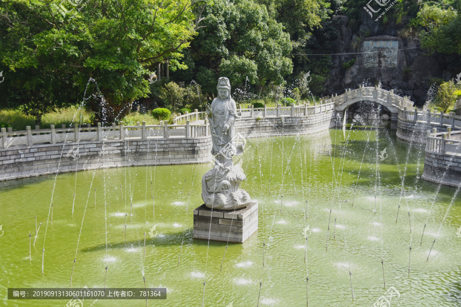
[[[50,108],[81,101],[86,90],[97,119],[121,119],[150,92],[146,79],[157,63],[169,57],[172,70],[185,68],[180,51],[196,34],[204,9],[204,2],[189,0],[74,3],[80,5],[62,3],[65,12],[50,0],[2,2],[4,104],[25,104],[39,120]],[[95,81],[87,89],[90,77]]]

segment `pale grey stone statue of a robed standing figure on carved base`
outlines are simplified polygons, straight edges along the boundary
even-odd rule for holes
[[[241,209],[250,203],[250,196],[239,188],[240,182],[246,180],[241,167],[243,161],[234,165],[232,157],[243,152],[245,139],[240,134],[235,135],[234,122],[238,116],[229,79],[219,78],[217,89],[218,98],[206,105],[215,165],[202,178],[202,199],[210,209]]]

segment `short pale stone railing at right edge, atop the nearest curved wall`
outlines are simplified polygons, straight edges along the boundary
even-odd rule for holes
[[[461,131],[452,131],[451,127],[447,132],[436,132],[436,128],[427,132],[426,152],[442,155],[461,156]]]

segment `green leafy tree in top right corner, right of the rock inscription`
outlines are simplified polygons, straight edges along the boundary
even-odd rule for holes
[[[422,47],[430,52],[461,53],[461,15],[444,5],[425,4],[413,20],[423,28]]]

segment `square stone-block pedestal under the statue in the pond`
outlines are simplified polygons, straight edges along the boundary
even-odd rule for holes
[[[232,225],[232,226],[231,226]],[[243,243],[258,229],[258,204],[238,210],[213,210],[204,204],[194,210],[194,238]]]

